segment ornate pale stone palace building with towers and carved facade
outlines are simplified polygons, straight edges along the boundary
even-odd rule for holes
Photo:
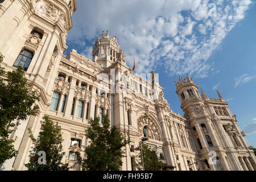
[[[173,170],[256,169],[254,152],[220,93],[219,99],[208,98],[203,90],[200,95],[191,77],[179,77],[176,93],[185,114],[174,113],[157,74],[146,79],[127,67],[125,53],[108,31],[96,39],[92,60],[75,49],[63,57],[76,0],[5,0],[0,9],[2,66],[12,71],[22,65],[31,90],[40,93],[33,106],[37,115],[15,121],[20,125],[10,138],[17,137],[18,155],[3,170],[26,169],[32,146],[27,129],[38,136],[44,115],[61,126],[63,162],[74,163],[77,155],[84,156],[81,146],[88,144],[88,119],[102,113],[130,137],[121,170],[135,170],[135,148],[143,137]]]

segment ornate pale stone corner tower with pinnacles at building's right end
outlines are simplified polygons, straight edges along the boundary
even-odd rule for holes
[[[189,120],[205,170],[255,170],[255,155],[220,92],[208,98],[187,75],[175,81],[184,117]]]

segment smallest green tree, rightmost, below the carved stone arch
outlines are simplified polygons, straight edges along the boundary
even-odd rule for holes
[[[147,144],[142,144],[141,147],[145,171],[162,171],[166,164],[162,163],[156,155],[156,148],[151,149]],[[141,171],[143,170],[141,150],[139,151],[137,158],[139,160],[137,160],[136,166]]]

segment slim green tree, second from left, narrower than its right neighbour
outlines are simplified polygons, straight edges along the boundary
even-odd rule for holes
[[[28,171],[68,171],[68,164],[63,164],[61,159],[65,155],[62,149],[63,138],[58,124],[54,125],[53,121],[47,116],[41,121],[42,127],[38,139],[34,138],[31,129],[28,129],[30,138],[33,143],[32,150],[29,155],[29,162],[25,164]],[[40,164],[39,151],[44,151],[46,156],[46,164]]]

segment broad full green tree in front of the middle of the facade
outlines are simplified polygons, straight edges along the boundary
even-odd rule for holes
[[[90,119],[90,126],[85,130],[89,139],[89,146],[85,148],[85,159],[80,161],[83,170],[89,171],[118,171],[122,166],[122,157],[125,147],[129,143],[117,127],[110,129],[108,115],[102,115],[103,125],[100,118]]]

